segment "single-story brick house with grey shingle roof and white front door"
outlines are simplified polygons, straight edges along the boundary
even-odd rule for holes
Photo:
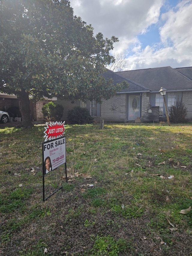
[[[67,119],[67,112],[75,106],[86,107],[95,119],[110,122],[159,122],[166,119],[161,87],[167,89],[166,102],[168,110],[177,99],[187,107],[186,118],[192,121],[192,67],[187,68],[149,68],[113,72],[107,70],[102,74],[106,79],[112,78],[113,83],[126,80],[127,89],[97,104],[94,100],[86,103],[58,99],[57,103],[64,107],[62,120]]]

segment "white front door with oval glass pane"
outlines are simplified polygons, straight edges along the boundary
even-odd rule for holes
[[[137,117],[140,117],[140,95],[129,95],[128,120],[135,120]]]

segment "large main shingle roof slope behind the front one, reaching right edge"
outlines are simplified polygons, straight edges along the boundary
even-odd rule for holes
[[[182,72],[182,74],[181,74]],[[185,73],[185,75],[183,74]],[[190,73],[190,75],[189,75]],[[148,68],[116,72],[122,77],[132,80],[148,88],[151,92],[158,92],[161,87],[167,91],[192,90],[192,68],[173,69],[171,67]],[[188,75],[188,77],[187,77]],[[190,79],[191,78],[191,79]]]

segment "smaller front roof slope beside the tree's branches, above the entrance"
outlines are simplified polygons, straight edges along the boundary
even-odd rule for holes
[[[121,73],[121,72],[119,72]],[[114,81],[114,84],[117,83],[122,83],[123,81],[127,81],[129,83],[129,88],[128,89],[123,89],[121,92],[148,92],[149,89],[146,88],[143,85],[140,85],[131,79],[128,79],[126,77],[123,77],[121,74],[117,74],[117,72],[113,72],[109,69],[107,69],[106,72],[101,74],[105,79],[110,79],[112,78]]]

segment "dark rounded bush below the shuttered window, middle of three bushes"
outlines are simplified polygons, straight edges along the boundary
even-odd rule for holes
[[[67,113],[67,120],[71,124],[92,124],[93,117],[90,115],[89,111],[86,108],[74,107],[69,110]]]

